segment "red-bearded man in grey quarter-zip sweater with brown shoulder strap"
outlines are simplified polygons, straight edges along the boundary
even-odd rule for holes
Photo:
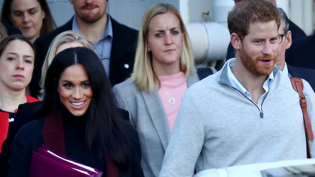
[[[275,66],[282,40],[277,8],[265,0],[241,0],[228,26],[236,58],[184,94],[159,177],[307,158],[298,93]],[[315,94],[303,84],[315,128]],[[315,144],[309,145],[314,157]]]

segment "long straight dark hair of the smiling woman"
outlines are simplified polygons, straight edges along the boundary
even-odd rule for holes
[[[85,68],[93,91],[85,128],[87,145],[90,150],[96,150],[101,161],[109,158],[118,166],[126,167],[131,152],[126,124],[117,110],[116,97],[105,69],[92,50],[68,48],[55,56],[47,71],[41,114],[52,113],[62,104],[57,91],[59,78],[67,67],[76,64]]]

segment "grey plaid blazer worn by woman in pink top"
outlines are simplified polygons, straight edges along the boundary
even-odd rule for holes
[[[188,87],[199,78],[194,72]],[[145,177],[158,177],[170,136],[169,125],[157,89],[152,94],[140,90],[130,79],[114,86],[118,106],[129,112],[141,144],[141,166]]]

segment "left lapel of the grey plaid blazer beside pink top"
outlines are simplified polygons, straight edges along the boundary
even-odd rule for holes
[[[170,130],[157,89],[155,87],[152,94],[149,94],[146,91],[141,91],[141,93],[147,105],[153,125],[160,137],[163,148],[166,150],[170,136]]]

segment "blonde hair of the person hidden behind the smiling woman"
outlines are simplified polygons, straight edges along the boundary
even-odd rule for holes
[[[39,98],[42,98],[47,70],[53,58],[56,55],[57,48],[62,44],[71,43],[71,42],[79,42],[83,45],[83,47],[89,48],[94,51],[92,43],[86,40],[83,37],[83,35],[79,34],[78,32],[69,30],[69,31],[58,34],[50,43],[50,47],[48,49],[48,52],[47,52],[47,55],[46,55],[46,58],[42,67],[42,77],[40,80],[41,90],[40,90],[40,95],[38,96]]]

